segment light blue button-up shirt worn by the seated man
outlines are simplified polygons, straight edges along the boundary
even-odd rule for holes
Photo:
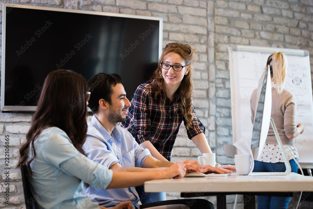
[[[117,156],[112,149],[113,141]],[[111,136],[95,115],[88,123],[83,149],[90,159],[108,168],[115,163],[121,164],[122,167],[142,167],[146,157],[151,155],[148,149],[139,146],[131,133],[120,126],[113,129]],[[134,187],[104,190],[89,186],[84,187],[80,194],[88,195],[92,201],[103,207],[116,206],[122,201],[132,201],[133,206],[138,208],[141,204]]]

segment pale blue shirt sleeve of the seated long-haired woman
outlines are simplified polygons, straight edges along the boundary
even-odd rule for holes
[[[65,132],[51,135],[43,153],[47,162],[92,186],[105,189],[112,180],[113,171],[81,154]]]

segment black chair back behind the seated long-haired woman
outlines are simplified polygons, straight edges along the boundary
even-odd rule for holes
[[[27,169],[28,169],[27,165],[25,164],[21,165],[25,205],[27,209],[39,209],[38,204],[34,199],[33,193],[30,190],[30,183],[27,178]]]

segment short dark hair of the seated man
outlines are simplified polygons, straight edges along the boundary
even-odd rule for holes
[[[100,99],[104,99],[111,104],[111,96],[113,93],[112,87],[116,86],[118,83],[122,83],[122,78],[116,73],[111,75],[98,73],[89,79],[87,82],[87,88],[91,93],[88,107],[91,109],[92,114],[98,113]]]

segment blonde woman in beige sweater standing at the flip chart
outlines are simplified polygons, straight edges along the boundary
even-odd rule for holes
[[[299,157],[295,148],[295,137],[303,132],[304,126],[296,124],[296,105],[293,95],[284,90],[287,75],[287,58],[283,52],[273,53],[269,56],[266,66],[270,67],[272,81],[272,112],[273,118],[280,139],[286,153],[290,153],[296,159]],[[251,120],[254,121],[254,110],[257,89],[251,95]],[[269,133],[266,138],[264,151],[258,161],[255,160],[254,172],[284,172],[286,170],[284,160],[279,150],[276,137],[272,126],[269,126]],[[291,172],[298,172],[296,162],[289,156],[286,156],[290,162]],[[287,208],[290,197],[258,196],[258,209]]]

